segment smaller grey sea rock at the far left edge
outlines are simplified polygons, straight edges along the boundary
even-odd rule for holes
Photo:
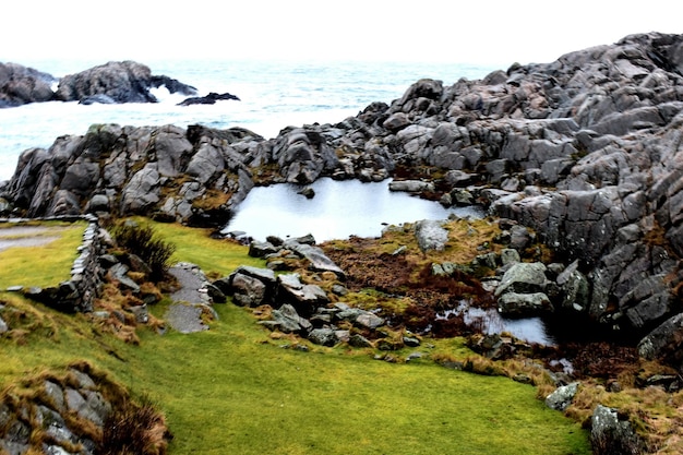
[[[50,101],[56,82],[52,75],[33,68],[0,62],[0,108]]]

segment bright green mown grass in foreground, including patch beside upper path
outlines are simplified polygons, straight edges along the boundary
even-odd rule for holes
[[[243,247],[197,230],[159,229],[178,246],[178,260],[206,271],[220,275],[255,263]],[[368,351],[284,349],[286,339],[272,339],[248,310],[230,303],[217,306],[220,320],[208,332],[143,330],[141,345],[130,346],[99,335],[82,315],[3,297],[28,314],[35,332],[23,345],[0,340],[0,387],[88,359],[158,403],[176,436],[173,454],[589,453],[586,433],[547,409],[531,386],[429,360],[392,364]],[[161,315],[164,304],[154,313]]]

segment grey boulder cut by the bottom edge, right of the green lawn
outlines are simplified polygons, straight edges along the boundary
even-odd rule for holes
[[[598,405],[590,418],[590,444],[599,454],[637,455],[643,453],[643,441],[628,420],[621,419],[616,410]]]

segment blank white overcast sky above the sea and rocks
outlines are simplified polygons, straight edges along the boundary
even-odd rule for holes
[[[0,62],[40,59],[551,62],[683,33],[672,0],[83,0],[2,4]]]

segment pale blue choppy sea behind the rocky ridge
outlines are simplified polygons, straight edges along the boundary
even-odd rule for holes
[[[1,57],[0,57],[1,61]],[[16,61],[56,77],[106,61]],[[93,123],[212,128],[243,127],[266,139],[288,125],[334,123],[356,116],[373,101],[391,104],[422,77],[452,85],[460,77],[481,79],[498,68],[457,63],[315,61],[145,61],[153,74],[193,85],[200,95],[229,92],[239,101],[177,106],[183,96],[155,92],[160,103],[91,105],[38,103],[0,109],[0,181],[16,168],[20,154],[49,147],[64,134],[84,134]]]

